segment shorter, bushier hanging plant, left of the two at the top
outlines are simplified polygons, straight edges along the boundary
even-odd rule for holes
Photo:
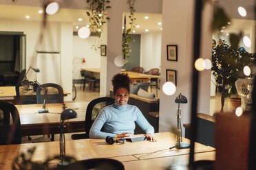
[[[89,16],[89,28],[91,32],[97,33],[100,38],[103,32],[103,25],[107,23],[107,14],[105,10],[111,8],[109,0],[87,0],[89,3],[89,12],[86,12]]]

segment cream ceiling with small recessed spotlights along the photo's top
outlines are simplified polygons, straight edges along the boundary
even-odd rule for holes
[[[72,22],[74,26],[74,31],[78,29],[75,26],[85,26],[89,24],[88,17],[85,14],[86,5],[84,1],[81,0],[72,0],[67,1],[63,0],[61,2],[61,10],[57,14],[52,16],[47,16],[48,21],[55,22]],[[19,20],[19,21],[41,21],[43,18],[43,14],[39,14],[39,10],[43,10],[43,8],[39,7],[40,4],[43,4],[43,0],[17,0],[17,3],[12,3],[11,0],[1,0],[0,5],[0,19],[8,19],[8,20]],[[224,33],[235,32],[236,30],[243,30],[244,32],[251,32],[251,25],[253,25],[253,21],[249,19],[253,19],[253,0],[220,0],[215,1],[216,4],[224,7],[226,12],[231,18],[236,19],[233,20],[230,27],[224,29]],[[243,6],[247,10],[247,16],[242,17],[239,16],[237,12],[238,6]],[[67,8],[68,7],[68,8]],[[74,9],[76,8],[76,9]],[[80,8],[80,9],[77,9]],[[25,19],[26,15],[30,15],[30,19]],[[124,12],[124,16],[127,16],[127,27],[129,27],[129,12]],[[145,19],[145,16],[149,16],[149,19]],[[150,32],[160,32],[160,28],[162,25],[158,25],[158,23],[162,22],[162,14],[145,14],[145,13],[136,13],[136,25],[140,25],[139,28],[135,27],[134,34],[142,34],[146,33],[145,29],[149,29]],[[78,21],[78,18],[83,19],[83,21]],[[123,24],[122,24],[123,25]],[[121,29],[121,28],[120,28]]]

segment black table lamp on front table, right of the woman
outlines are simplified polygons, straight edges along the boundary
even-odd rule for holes
[[[188,143],[182,143],[182,126],[181,126],[181,108],[180,104],[186,104],[188,102],[188,99],[184,95],[180,93],[178,97],[175,99],[175,103],[178,104],[177,108],[177,143],[175,147],[177,149],[184,149],[184,148],[189,148]]]

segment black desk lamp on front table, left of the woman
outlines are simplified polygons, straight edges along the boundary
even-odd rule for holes
[[[63,108],[65,109],[65,107]],[[61,132],[60,132],[60,159],[58,162],[59,169],[65,169],[69,162],[65,161],[66,151],[65,151],[65,120],[74,119],[77,117],[77,114],[74,110],[67,108],[61,112]]]

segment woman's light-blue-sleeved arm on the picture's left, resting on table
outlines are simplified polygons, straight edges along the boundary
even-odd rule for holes
[[[107,136],[115,137],[116,134],[101,132],[101,128],[103,127],[104,123],[107,121],[107,117],[105,112],[100,112],[98,117],[95,119],[94,123],[92,124],[91,130],[89,130],[89,138],[106,138]]]

